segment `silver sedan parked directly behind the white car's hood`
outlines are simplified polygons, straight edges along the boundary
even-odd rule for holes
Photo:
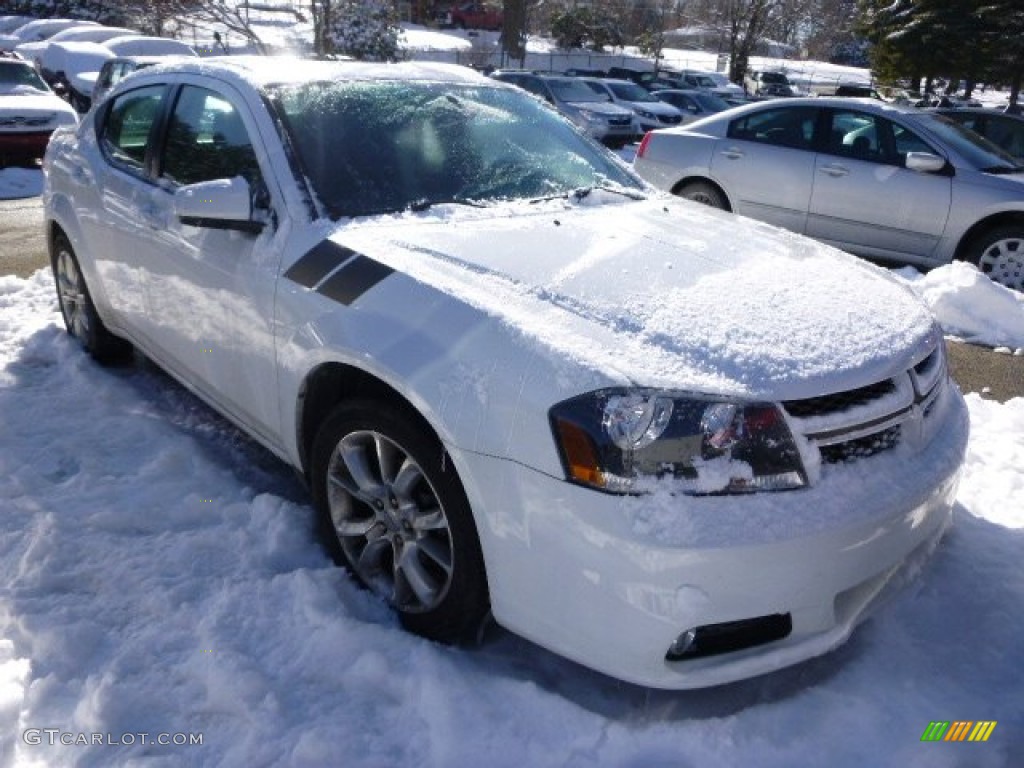
[[[948,118],[873,99],[739,106],[648,135],[655,186],[873,259],[971,261],[1024,291],[1024,166]]]

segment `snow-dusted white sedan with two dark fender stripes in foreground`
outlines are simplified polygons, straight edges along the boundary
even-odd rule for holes
[[[911,292],[650,198],[465,68],[145,70],[45,171],[73,337],[296,467],[426,637],[493,613],[636,683],[745,678],[842,643],[950,521],[967,413]]]

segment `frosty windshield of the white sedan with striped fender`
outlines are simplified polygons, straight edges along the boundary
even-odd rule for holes
[[[607,151],[516,89],[329,82],[270,95],[332,218],[644,189]]]

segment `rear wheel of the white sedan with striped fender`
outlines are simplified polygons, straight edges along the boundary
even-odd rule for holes
[[[131,344],[110,331],[96,313],[78,257],[61,232],[53,238],[50,266],[65,328],[97,362],[114,362],[131,353]]]

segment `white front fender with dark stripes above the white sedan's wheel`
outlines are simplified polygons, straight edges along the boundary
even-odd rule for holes
[[[513,324],[440,288],[390,267],[383,271],[385,276],[353,298],[326,285],[312,290],[302,285],[308,282],[302,275],[288,276],[286,268],[278,290],[285,418],[296,413],[309,373],[340,362],[400,393],[446,444],[562,476],[549,409],[625,381],[561,359]],[[296,464],[298,426],[296,418],[291,430]]]

